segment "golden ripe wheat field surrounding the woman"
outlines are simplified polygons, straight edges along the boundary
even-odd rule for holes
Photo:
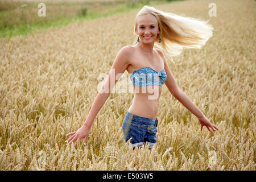
[[[212,2],[217,16],[209,17]],[[255,170],[256,2],[154,7],[209,19],[214,27],[203,48],[167,61],[180,88],[219,130],[200,131],[195,115],[163,85],[151,152],[123,141],[132,93],[110,94],[85,145],[65,143],[89,113],[98,75],[108,74],[118,51],[137,39],[134,10],[0,39],[1,170]]]

